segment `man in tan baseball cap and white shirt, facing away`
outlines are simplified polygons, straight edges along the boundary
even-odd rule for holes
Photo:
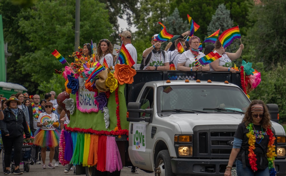
[[[126,49],[130,53],[132,59],[135,62],[135,65],[137,63],[137,51],[136,48],[131,44],[131,38],[132,34],[130,31],[123,31],[119,34],[120,41],[123,41],[123,44],[125,45]],[[134,66],[135,66],[134,65]]]

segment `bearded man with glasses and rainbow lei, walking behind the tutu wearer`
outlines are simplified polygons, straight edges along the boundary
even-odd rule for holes
[[[40,103],[40,96],[36,94],[33,96],[33,103],[31,103],[31,105],[28,106],[29,117],[30,117],[30,129],[33,135],[35,131],[39,129],[39,127],[37,127],[39,114],[45,112],[45,107],[42,107],[39,103]],[[41,164],[41,162],[37,161],[39,149],[40,149],[39,146],[33,145],[32,161],[30,164],[34,163]]]

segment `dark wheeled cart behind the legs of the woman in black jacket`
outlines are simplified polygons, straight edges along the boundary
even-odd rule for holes
[[[24,171],[26,172],[29,172],[30,170],[30,161],[31,161],[31,157],[32,157],[32,145],[33,143],[31,143],[31,141],[24,141],[23,143],[23,147],[22,147],[22,150],[21,150],[21,162],[20,162],[20,165],[23,164],[24,166]],[[3,145],[1,144],[1,149],[2,149],[2,158],[3,158],[3,171],[5,172],[6,170],[6,166],[5,166],[5,163],[4,163],[4,147]],[[11,154],[11,173],[14,172],[15,170],[15,163],[13,162],[14,161],[14,149],[12,149],[12,154]]]

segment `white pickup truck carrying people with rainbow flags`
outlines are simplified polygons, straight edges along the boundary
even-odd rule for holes
[[[208,79],[212,81],[202,81]],[[159,71],[134,77],[126,89],[132,165],[160,176],[223,175],[233,135],[251,103],[240,86],[239,73],[229,72]],[[267,106],[277,121],[278,106]],[[274,121],[272,130],[277,175],[286,175],[285,131]],[[237,175],[235,167],[232,175]]]

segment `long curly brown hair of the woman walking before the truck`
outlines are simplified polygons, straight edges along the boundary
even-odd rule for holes
[[[249,123],[253,123],[253,120],[252,120],[252,112],[251,112],[251,107],[255,104],[261,104],[264,108],[264,112],[263,112],[263,117],[260,121],[260,124],[261,126],[264,128],[264,129],[267,129],[268,127],[271,127],[271,122],[270,122],[270,114],[269,114],[269,111],[268,111],[268,108],[267,106],[265,105],[265,103],[262,101],[262,100],[253,100],[249,107],[247,108],[246,112],[245,112],[245,115],[244,115],[244,118],[242,119],[242,122],[245,123],[245,125],[247,126]]]

